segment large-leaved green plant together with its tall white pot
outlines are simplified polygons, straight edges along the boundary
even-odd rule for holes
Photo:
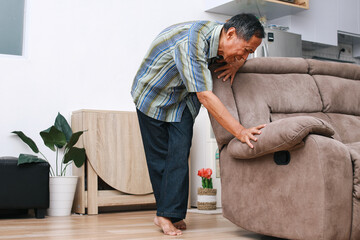
[[[18,165],[32,162],[49,162],[39,150],[36,143],[22,131],[13,131],[30,149],[39,155],[20,154]],[[50,206],[47,211],[50,216],[67,216],[71,213],[77,177],[66,176],[66,170],[71,163],[81,167],[86,160],[84,148],[75,147],[84,131],[73,133],[66,119],[58,113],[55,123],[48,129],[41,131],[40,136],[45,146],[55,152],[55,169],[50,165]],[[61,161],[60,156],[61,157]],[[61,199],[56,199],[60,196]],[[60,204],[60,205],[59,205]]]

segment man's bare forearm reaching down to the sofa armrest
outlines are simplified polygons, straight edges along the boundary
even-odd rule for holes
[[[236,138],[240,138],[241,131],[244,127],[230,114],[224,104],[212,91],[198,92],[197,96],[199,101],[223,128]]]

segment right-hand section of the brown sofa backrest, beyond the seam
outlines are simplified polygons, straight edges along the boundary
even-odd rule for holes
[[[323,110],[343,143],[360,142],[360,66],[308,59]]]

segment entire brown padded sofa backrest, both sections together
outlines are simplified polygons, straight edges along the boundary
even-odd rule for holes
[[[360,141],[360,66],[303,58],[255,58],[240,69],[233,86],[216,76],[214,93],[245,127],[310,115],[332,124],[335,139]],[[222,147],[233,136],[211,121]]]

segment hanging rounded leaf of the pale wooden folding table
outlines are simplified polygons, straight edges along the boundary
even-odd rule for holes
[[[152,192],[135,112],[81,110],[83,144],[94,171],[129,194]]]

